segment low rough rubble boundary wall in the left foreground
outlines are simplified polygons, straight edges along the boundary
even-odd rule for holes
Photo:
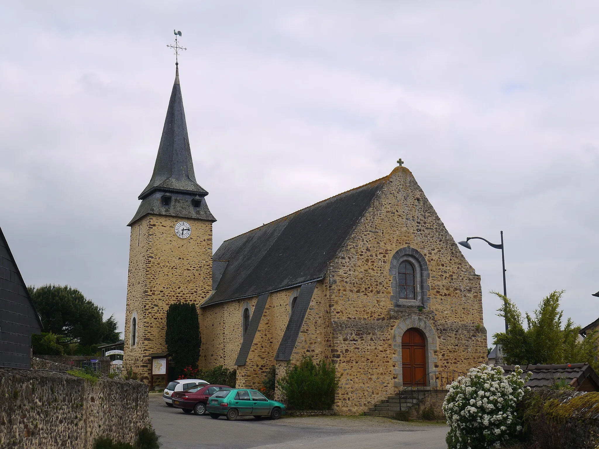
[[[91,449],[99,436],[134,444],[149,426],[138,381],[96,384],[64,372],[0,368],[0,447]]]

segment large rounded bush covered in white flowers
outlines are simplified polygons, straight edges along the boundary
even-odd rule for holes
[[[512,440],[522,427],[516,418],[516,404],[524,396],[522,370],[503,375],[501,366],[471,368],[447,388],[443,412],[451,427],[449,449],[498,447]]]

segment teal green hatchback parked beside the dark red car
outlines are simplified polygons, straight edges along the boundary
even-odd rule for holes
[[[211,418],[226,415],[229,421],[235,421],[240,415],[252,415],[256,419],[270,416],[278,420],[285,413],[285,405],[249,389],[220,390],[210,396],[206,409]]]

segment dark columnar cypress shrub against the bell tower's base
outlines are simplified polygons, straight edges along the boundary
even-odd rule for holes
[[[198,310],[195,304],[178,302],[167,311],[167,349],[173,357],[174,375],[183,374],[187,366],[198,368],[199,335]]]

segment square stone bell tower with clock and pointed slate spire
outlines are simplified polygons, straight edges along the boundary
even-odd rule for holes
[[[174,302],[200,304],[212,290],[212,223],[193,172],[179,64],[168,102],[152,179],[129,222],[129,275],[124,365],[150,377],[152,353],[167,352],[167,310]]]

